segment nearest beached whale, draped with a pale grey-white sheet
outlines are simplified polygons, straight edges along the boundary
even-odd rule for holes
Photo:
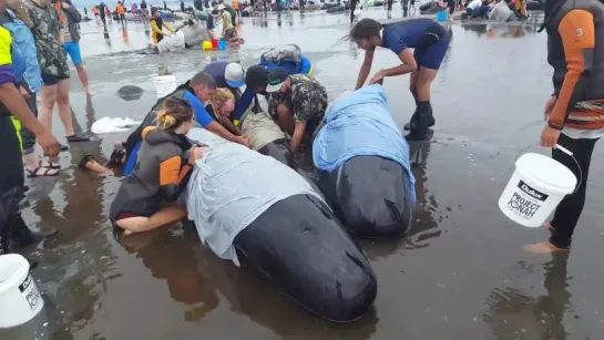
[[[188,218],[203,243],[321,318],[347,322],[369,310],[373,271],[305,178],[204,128],[187,136],[209,147],[187,186]]]

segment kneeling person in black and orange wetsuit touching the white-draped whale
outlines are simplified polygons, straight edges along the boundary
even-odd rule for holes
[[[122,182],[109,216],[124,235],[149,231],[186,216],[186,208],[175,203],[186,188],[195,161],[206,150],[186,137],[193,125],[191,104],[170,97],[157,113],[156,126],[143,131],[134,171]]]

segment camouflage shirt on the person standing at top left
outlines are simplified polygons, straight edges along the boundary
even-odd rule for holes
[[[57,10],[52,4],[41,7],[31,0],[23,0],[21,3],[33,23],[31,32],[42,73],[69,78],[68,60],[59,40],[61,22]]]

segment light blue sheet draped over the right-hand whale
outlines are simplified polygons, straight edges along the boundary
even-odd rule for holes
[[[381,85],[365,86],[336,100],[325,120],[325,126],[313,143],[313,162],[318,169],[335,172],[355,156],[392,159],[409,174],[411,199],[416,202],[409,144],[390,115]]]

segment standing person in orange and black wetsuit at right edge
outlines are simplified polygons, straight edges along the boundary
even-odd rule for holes
[[[549,241],[526,247],[533,253],[552,253],[571,247],[585,204],[592,153],[597,140],[604,136],[604,3],[547,0],[542,30],[547,32],[554,93],[545,104],[547,125],[541,133],[541,145],[553,148],[552,158],[571,169],[579,184],[545,224],[551,233]]]

